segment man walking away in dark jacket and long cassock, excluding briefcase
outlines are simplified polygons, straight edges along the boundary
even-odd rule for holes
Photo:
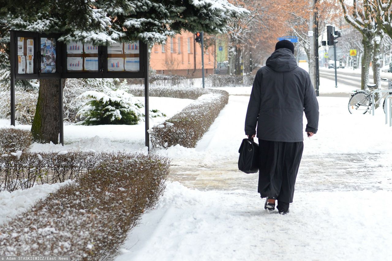
[[[258,193],[264,208],[287,214],[303,152],[303,112],[308,137],[317,133],[319,107],[309,74],[298,67],[294,45],[278,41],[254,79],[245,135],[259,140]],[[257,132],[256,132],[257,125]]]

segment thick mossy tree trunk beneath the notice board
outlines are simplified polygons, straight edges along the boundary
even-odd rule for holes
[[[59,79],[41,79],[38,101],[31,134],[34,141],[58,144],[59,134]],[[64,88],[64,86],[63,86]]]

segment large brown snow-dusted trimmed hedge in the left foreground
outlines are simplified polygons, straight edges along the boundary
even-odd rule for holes
[[[126,157],[124,157],[126,156]],[[0,227],[0,256],[111,260],[165,189],[169,160],[122,154]]]

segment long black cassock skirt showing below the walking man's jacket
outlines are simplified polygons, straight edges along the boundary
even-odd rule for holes
[[[292,203],[294,185],[301,162],[303,142],[259,139],[259,184],[261,198],[274,197]]]

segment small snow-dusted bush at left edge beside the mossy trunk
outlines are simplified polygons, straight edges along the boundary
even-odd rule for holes
[[[0,153],[2,155],[15,153],[16,151],[28,151],[32,142],[33,137],[30,131],[15,128],[0,128]]]

